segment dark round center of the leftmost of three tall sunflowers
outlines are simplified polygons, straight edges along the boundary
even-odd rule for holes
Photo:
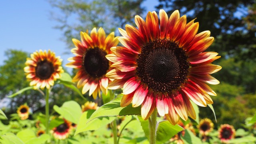
[[[47,60],[40,61],[36,66],[36,76],[42,80],[46,80],[54,73],[54,67],[51,62]]]

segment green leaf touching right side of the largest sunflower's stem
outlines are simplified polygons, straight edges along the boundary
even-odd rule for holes
[[[179,125],[172,125],[169,121],[159,122],[156,131],[156,144],[162,144],[167,140],[170,140],[175,134],[184,130]]]

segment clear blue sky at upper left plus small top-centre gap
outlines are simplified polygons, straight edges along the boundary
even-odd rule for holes
[[[158,0],[146,0],[142,6],[148,11],[155,10]],[[36,50],[52,50],[61,56],[63,63],[74,56],[67,52],[62,32],[54,29],[58,23],[50,20],[52,8],[47,0],[0,0],[0,65],[4,64],[7,49],[32,53]]]

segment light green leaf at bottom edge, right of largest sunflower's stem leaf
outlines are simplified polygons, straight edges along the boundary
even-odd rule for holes
[[[200,138],[196,137],[193,132],[188,129],[185,130],[184,136],[181,135],[181,139],[183,140],[184,144],[202,144]]]

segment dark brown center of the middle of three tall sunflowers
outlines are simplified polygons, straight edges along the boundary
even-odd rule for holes
[[[93,78],[100,78],[107,73],[109,68],[107,53],[98,48],[88,48],[83,56],[84,70]]]

